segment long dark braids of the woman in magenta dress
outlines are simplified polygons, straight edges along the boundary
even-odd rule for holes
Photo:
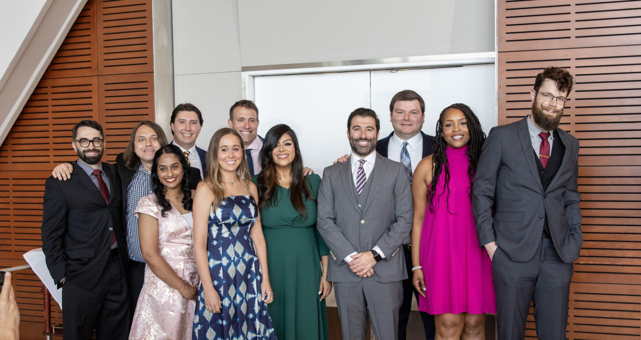
[[[445,186],[443,187],[443,192],[439,195],[444,194],[445,188],[447,188],[447,197],[449,197],[449,164],[447,163],[447,154],[445,154],[445,147],[447,147],[447,143],[443,136],[443,119],[445,117],[445,113],[447,113],[449,109],[460,109],[463,112],[465,119],[467,119],[467,130],[470,134],[470,140],[467,142],[467,157],[470,160],[470,166],[467,168],[467,176],[470,179],[470,186],[467,188],[467,195],[470,199],[472,198],[472,183],[474,182],[476,165],[478,164],[479,157],[481,156],[481,147],[483,147],[483,142],[485,142],[485,133],[481,130],[479,118],[474,115],[474,112],[469,106],[460,103],[452,104],[441,111],[438,116],[436,137],[432,143],[432,149],[434,150],[434,156],[432,156],[432,168],[434,174],[432,175],[432,182],[428,188],[428,204],[429,211],[431,213],[434,212],[433,201],[437,191],[438,177],[440,177],[443,170],[445,171]],[[449,206],[447,209],[449,211]]]

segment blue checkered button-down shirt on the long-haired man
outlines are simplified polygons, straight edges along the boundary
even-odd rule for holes
[[[138,166],[138,170],[131,177],[127,188],[127,245],[129,246],[129,259],[138,262],[145,262],[140,250],[140,239],[138,239],[138,218],[133,215],[138,206],[138,201],[151,193],[151,172],[144,166]]]

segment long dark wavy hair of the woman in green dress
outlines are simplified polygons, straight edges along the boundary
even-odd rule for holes
[[[272,150],[274,150],[283,134],[288,134],[292,138],[294,150],[296,150],[296,156],[294,156],[294,161],[292,161],[292,170],[290,172],[292,175],[292,181],[289,187],[290,199],[296,211],[301,215],[301,218],[305,219],[307,218],[307,209],[304,200],[310,198],[312,198],[314,202],[316,202],[316,200],[308,188],[309,180],[303,175],[303,157],[301,156],[301,149],[298,145],[296,133],[294,133],[291,127],[285,124],[278,124],[269,129],[267,134],[265,134],[265,140],[263,140],[263,149],[260,150],[260,166],[262,170],[260,174],[258,174],[257,181],[259,194],[258,207],[260,209],[266,209],[275,206],[276,202],[278,202],[278,181],[276,180],[276,167],[274,165],[274,159],[272,158]]]

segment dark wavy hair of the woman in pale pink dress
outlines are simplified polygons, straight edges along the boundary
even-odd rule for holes
[[[180,164],[183,166],[183,181],[180,182],[180,191],[183,193],[182,203],[186,210],[192,211],[192,203],[194,200],[192,200],[192,190],[190,189],[191,186],[189,182],[191,167],[187,164],[187,158],[185,158],[183,152],[176,145],[167,144],[156,151],[156,154],[154,154],[154,162],[151,165],[151,191],[156,195],[158,206],[162,207],[160,211],[161,215],[167,217],[167,211],[171,210],[169,199],[165,196],[167,188],[160,183],[160,179],[158,178],[158,159],[160,159],[160,156],[163,154],[176,155],[176,158],[179,159]]]

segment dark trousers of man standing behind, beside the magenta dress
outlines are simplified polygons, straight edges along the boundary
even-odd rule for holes
[[[403,304],[399,311],[399,340],[405,340],[407,336],[407,323],[410,321],[410,311],[412,310],[412,294],[419,301],[419,292],[412,285],[412,250],[403,249],[405,255],[405,266],[407,268],[408,279],[403,280]],[[425,339],[434,340],[437,331],[434,325],[434,316],[426,312],[419,312],[425,329]]]

